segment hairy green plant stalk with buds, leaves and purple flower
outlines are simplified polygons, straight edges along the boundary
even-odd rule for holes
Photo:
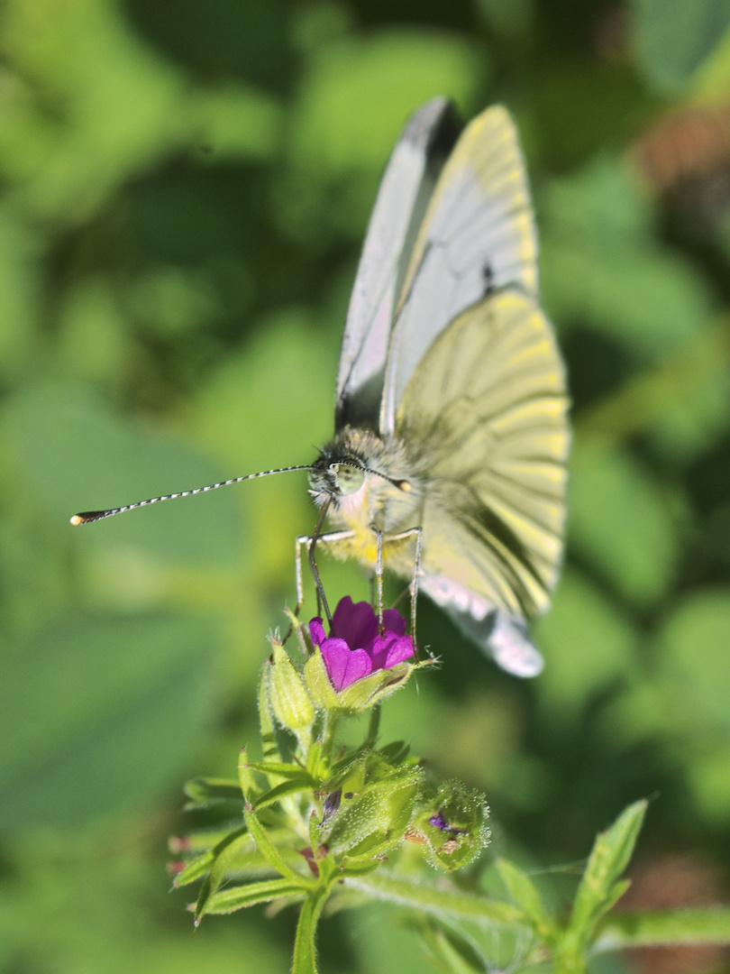
[[[382,745],[378,737],[383,699],[432,661],[415,661],[397,613],[383,613],[381,630],[367,603],[341,601],[329,633],[320,618],[293,624],[304,660],[272,639],[262,669],[261,760],[244,748],[237,779],[186,786],[187,807],[216,818],[206,832],[171,842],[173,884],[201,880],[191,908],[196,924],[258,904],[296,906],[294,974],[316,972],[325,909],[363,899],[410,910],[425,949],[446,970],[488,968],[496,962],[490,944],[509,936],[529,945],[524,965],[552,959],[559,974],[586,970],[591,953],[639,943],[730,942],[728,910],[608,913],[627,888],[621,875],[645,802],[630,805],[598,837],[567,919],[553,916],[528,874],[505,860],[496,863],[501,898],[460,888],[452,878],[490,842],[485,797],[457,781],[433,781],[405,744]],[[364,738],[345,747],[340,731],[366,711]],[[480,930],[487,935],[482,956]]]

